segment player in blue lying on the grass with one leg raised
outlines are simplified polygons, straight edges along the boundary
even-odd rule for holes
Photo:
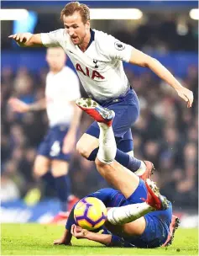
[[[173,237],[170,234],[170,223],[172,234],[178,225],[176,217],[171,222],[171,203],[160,195],[150,179],[144,183],[137,175],[114,160],[117,150],[112,128],[114,112],[102,107],[86,108],[83,99],[81,103],[78,101],[78,105],[84,106],[83,109],[98,122],[100,136],[97,170],[117,190],[101,189],[89,195],[102,200],[107,208],[111,207],[107,211],[106,229],[103,234],[76,227],[73,209],[66,222],[63,237],[54,243],[71,244],[73,235],[107,246],[156,248],[164,243],[169,244]]]

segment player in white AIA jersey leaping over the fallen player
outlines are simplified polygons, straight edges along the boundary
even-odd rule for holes
[[[131,126],[139,117],[139,99],[128,83],[123,71],[123,61],[140,67],[149,67],[158,77],[165,80],[175,92],[186,101],[190,108],[193,93],[181,86],[175,77],[156,59],[135,49],[131,45],[115,39],[102,31],[91,29],[90,10],[86,4],[71,2],[60,13],[64,29],[50,33],[32,35],[19,33],[10,35],[20,46],[61,46],[70,57],[81,83],[89,98],[78,102],[81,107],[102,108],[115,112],[113,131],[117,142],[116,161],[139,174],[142,179],[149,178],[153,164],[133,157]],[[89,110],[88,110],[89,111]],[[77,151],[83,157],[94,161],[98,152],[99,127],[94,122],[77,142]]]

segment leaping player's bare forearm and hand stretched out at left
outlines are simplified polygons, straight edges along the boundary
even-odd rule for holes
[[[15,40],[21,47],[43,46],[40,34],[18,33],[9,35],[8,38]]]

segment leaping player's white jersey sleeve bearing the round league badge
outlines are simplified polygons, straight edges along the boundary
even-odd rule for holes
[[[112,35],[103,35],[103,39],[99,41],[102,54],[110,59],[118,59],[120,61],[130,61],[133,46],[124,44]]]

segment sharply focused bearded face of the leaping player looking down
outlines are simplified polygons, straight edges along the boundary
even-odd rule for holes
[[[75,12],[71,16],[64,16],[64,26],[74,45],[81,45],[90,30],[90,22],[87,21],[84,24],[79,12]]]

